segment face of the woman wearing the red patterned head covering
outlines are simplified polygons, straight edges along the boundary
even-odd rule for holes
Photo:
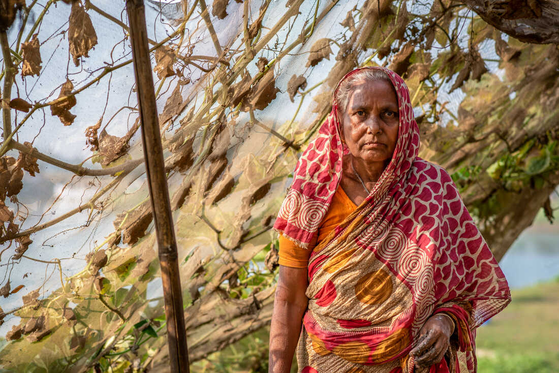
[[[370,80],[354,84],[342,118],[342,137],[353,157],[367,163],[388,163],[396,147],[399,123],[392,84]]]

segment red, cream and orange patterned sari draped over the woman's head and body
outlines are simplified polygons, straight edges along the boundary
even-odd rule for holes
[[[451,347],[424,371],[475,372],[475,328],[509,303],[509,287],[449,174],[418,157],[408,87],[391,70],[375,68],[389,74],[397,93],[396,148],[367,199],[311,254],[299,369],[414,372],[409,351],[419,329],[444,311],[457,325]],[[302,247],[328,211],[348,153],[338,110],[334,100],[297,162],[274,224]]]

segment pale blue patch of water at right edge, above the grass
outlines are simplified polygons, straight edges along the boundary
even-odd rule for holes
[[[499,262],[513,289],[549,281],[559,276],[559,228],[556,232],[529,228]]]

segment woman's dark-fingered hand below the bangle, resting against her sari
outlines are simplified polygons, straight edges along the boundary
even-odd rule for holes
[[[446,315],[435,314],[419,330],[419,337],[410,355],[418,368],[439,363],[450,344],[454,323]]]

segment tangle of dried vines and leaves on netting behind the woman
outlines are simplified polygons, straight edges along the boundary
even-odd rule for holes
[[[2,97],[13,102],[0,148],[7,370],[159,371],[167,362],[121,6],[34,2],[0,35]],[[191,361],[268,323],[274,216],[331,90],[354,67],[402,74],[421,156],[451,171],[495,252],[559,183],[555,46],[515,40],[447,0],[209,7],[146,8]],[[78,163],[61,159],[72,154]],[[35,180],[48,196],[28,192]],[[518,196],[532,200],[527,209],[510,203]]]

